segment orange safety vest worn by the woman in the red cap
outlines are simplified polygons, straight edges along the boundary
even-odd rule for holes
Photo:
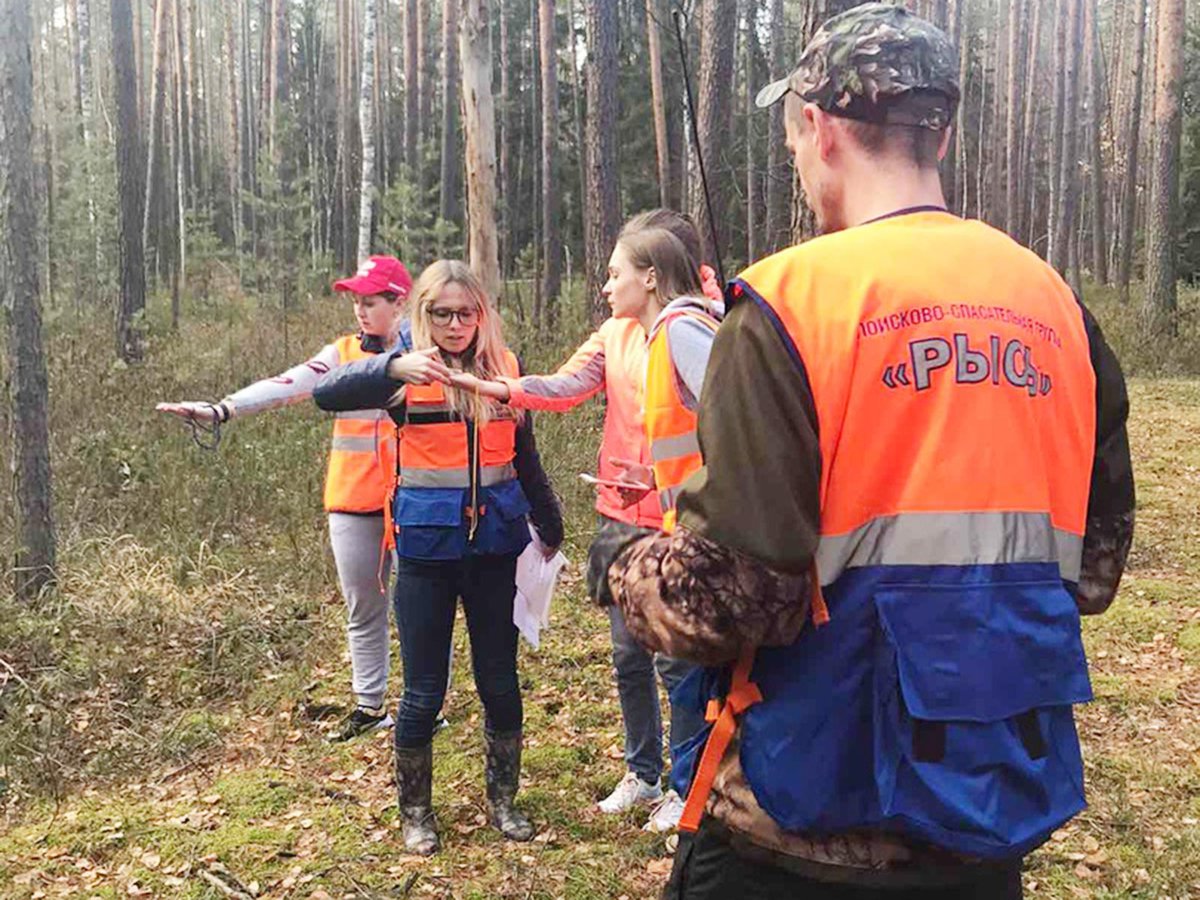
[[[370,359],[361,335],[344,335],[334,342],[337,362]],[[355,409],[334,418],[334,440],[325,474],[325,510],[329,512],[380,512],[395,479],[396,430],[383,409]]]

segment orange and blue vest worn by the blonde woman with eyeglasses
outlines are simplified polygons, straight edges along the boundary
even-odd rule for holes
[[[505,374],[517,359],[505,352]],[[458,418],[442,384],[406,388],[392,505],[396,551],[425,560],[520,553],[529,544],[529,502],[516,473],[516,419]],[[505,415],[508,413],[508,415]]]

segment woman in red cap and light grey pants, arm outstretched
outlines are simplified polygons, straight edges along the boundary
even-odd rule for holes
[[[217,403],[160,403],[184,419],[227,422],[234,416],[289,406],[312,396],[323,374],[354,360],[408,346],[404,318],[413,278],[395,257],[370,257],[355,275],[334,282],[354,302],[358,331],[343,335],[299,366],[230,394]],[[395,432],[384,410],[338,413],[325,476],[325,511],[337,578],[347,608],[355,708],[336,739],[347,740],[391,725],[388,691],[388,598],[383,590],[391,559],[380,559],[384,506],[395,478]]]

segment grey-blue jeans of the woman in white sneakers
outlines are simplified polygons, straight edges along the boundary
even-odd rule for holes
[[[670,695],[695,666],[684,660],[650,653],[642,648],[625,628],[620,607],[608,607],[612,629],[612,665],[617,670],[617,694],[625,720],[625,764],[642,781],[658,784],[662,775],[662,715],[659,710],[659,685],[655,671]],[[667,743],[674,748],[704,727],[704,716],[685,704],[671,704],[671,733]]]

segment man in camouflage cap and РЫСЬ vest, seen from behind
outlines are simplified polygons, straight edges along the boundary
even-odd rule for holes
[[[1133,533],[1124,380],[1057,272],[946,209],[955,59],[868,4],[758,95],[824,234],[730,284],[704,468],[608,570],[641,643],[708,667],[666,898],[1015,900],[1084,806],[1079,614]]]

